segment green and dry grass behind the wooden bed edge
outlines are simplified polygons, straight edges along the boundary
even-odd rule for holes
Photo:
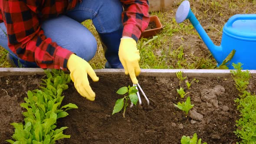
[[[183,0],[174,1],[172,10],[150,12],[157,15],[163,25],[161,32],[150,39],[139,39],[142,69],[218,69],[210,51],[189,20],[176,23],[175,13]],[[256,0],[190,0],[190,7],[213,43],[220,45],[222,28],[226,21],[238,13],[254,13]],[[98,51],[89,62],[93,69],[105,65],[104,52],[91,20],[82,23],[95,36]],[[0,49],[0,67],[8,67],[5,52]]]

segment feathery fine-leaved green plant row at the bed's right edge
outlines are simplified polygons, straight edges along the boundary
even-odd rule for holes
[[[237,129],[234,131],[240,138],[237,144],[256,144],[256,95],[246,91],[251,77],[248,70],[242,71],[241,63],[232,64],[235,70],[230,70],[235,81],[240,98],[236,98],[240,119],[236,121]]]

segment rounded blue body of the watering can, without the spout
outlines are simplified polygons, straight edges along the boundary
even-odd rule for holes
[[[226,63],[241,62],[243,69],[256,69],[256,14],[236,14],[223,27],[221,45],[225,59],[235,49],[235,55]]]

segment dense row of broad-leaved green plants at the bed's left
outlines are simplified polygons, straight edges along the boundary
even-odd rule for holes
[[[54,144],[62,138],[69,138],[70,135],[63,134],[67,127],[58,128],[57,119],[69,115],[66,111],[78,108],[75,104],[61,106],[64,96],[62,91],[68,88],[70,82],[69,74],[53,69],[52,72],[45,71],[47,79],[40,89],[27,92],[25,102],[20,106],[26,108],[23,112],[23,123],[12,123],[15,132],[13,140],[7,140],[11,144]]]

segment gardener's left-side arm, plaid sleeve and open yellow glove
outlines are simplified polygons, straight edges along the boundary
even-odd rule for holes
[[[9,48],[21,59],[36,62],[43,69],[69,69],[77,91],[93,101],[95,93],[89,85],[87,74],[93,81],[98,81],[98,77],[88,62],[58,46],[50,38],[46,38],[38,20],[37,2],[37,0],[3,0],[0,3],[2,19],[7,27]],[[66,6],[64,4],[63,0],[63,7],[75,5],[73,2]],[[54,14],[63,12],[60,7],[58,10],[51,12]]]

